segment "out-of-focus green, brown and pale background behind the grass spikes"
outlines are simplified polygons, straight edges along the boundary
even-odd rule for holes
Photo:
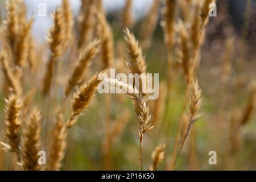
[[[61,1],[26,0],[28,16],[34,15],[33,34],[38,44],[46,44],[46,36],[52,24],[51,13]],[[79,15],[81,2],[70,1],[75,18]],[[134,26],[132,31],[136,38],[145,16],[152,5],[152,0],[133,1]],[[1,0],[1,15],[5,15],[4,1]],[[37,15],[38,4],[46,3],[46,17]],[[115,57],[126,55],[120,50],[119,42],[123,42],[122,11],[125,0],[104,0],[103,5],[112,26],[114,35]],[[233,118],[238,118],[246,110],[251,100],[251,85],[256,79],[256,1],[255,0],[217,0],[217,16],[211,17],[207,27],[205,44],[201,51],[201,63],[198,70],[199,82],[203,90],[203,113],[196,122],[191,136],[184,146],[176,169],[256,169],[256,117],[251,113],[246,125],[233,130]],[[160,17],[160,11],[159,11]],[[232,45],[228,40],[233,39]],[[225,53],[228,46],[232,47],[228,77],[225,73]],[[167,76],[167,53],[163,43],[163,30],[160,18],[156,27],[152,45],[145,49],[144,55],[148,64],[148,72],[159,73],[160,97],[158,103],[151,104],[151,112],[164,110],[164,85]],[[144,168],[151,163],[151,152],[160,143],[168,142],[166,159],[159,169],[164,169],[171,160],[179,117],[183,107],[185,81],[182,73],[177,73],[171,107],[168,110],[170,125],[166,129],[162,123],[163,117],[158,116],[154,130],[146,134],[144,139]],[[72,129],[68,140],[67,155],[63,169],[94,170],[104,167],[105,111],[102,104],[103,96],[97,94],[89,110],[79,119]],[[133,170],[138,168],[138,134],[137,121],[130,100],[125,96],[111,96],[110,121],[123,122],[122,132],[115,138],[110,150],[110,169]],[[41,98],[42,99],[42,98]],[[3,112],[3,97],[1,113]],[[154,106],[157,105],[158,108]],[[44,107],[44,106],[42,106]],[[161,115],[161,114],[160,114]],[[1,114],[3,116],[3,114]],[[155,116],[156,117],[156,116]],[[2,120],[2,119],[1,119]],[[1,125],[0,125],[1,126]],[[170,128],[169,128],[170,127]],[[1,129],[3,127],[0,127]],[[164,130],[161,130],[163,129]],[[166,131],[167,130],[167,131]],[[237,135],[233,141],[230,136]],[[168,138],[168,139],[167,139]],[[231,137],[232,138],[232,137]],[[230,141],[232,140],[232,141]],[[231,143],[231,144],[230,144]],[[230,149],[232,145],[232,149]],[[217,152],[217,165],[209,165],[209,151]],[[6,155],[6,158],[8,156]],[[10,159],[5,159],[10,160]],[[10,169],[3,166],[2,169]]]

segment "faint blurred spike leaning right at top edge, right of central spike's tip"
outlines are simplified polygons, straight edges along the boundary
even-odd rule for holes
[[[152,3],[151,8],[146,15],[146,19],[142,24],[141,45],[143,49],[151,46],[151,39],[158,24],[160,2],[160,0],[155,0],[154,3]]]

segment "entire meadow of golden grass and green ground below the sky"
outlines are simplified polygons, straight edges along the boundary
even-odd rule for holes
[[[1,170],[256,169],[252,1],[237,28],[223,1],[154,0],[135,20],[133,0],[108,14],[81,0],[77,16],[62,0],[43,43],[38,13],[0,3]],[[159,97],[98,78],[110,69],[159,73]]]

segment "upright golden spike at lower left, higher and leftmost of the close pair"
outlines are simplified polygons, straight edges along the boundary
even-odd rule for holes
[[[11,94],[6,100],[5,105],[5,135],[9,139],[11,151],[20,155],[20,127],[22,124],[21,115],[21,101],[20,98],[14,94]]]

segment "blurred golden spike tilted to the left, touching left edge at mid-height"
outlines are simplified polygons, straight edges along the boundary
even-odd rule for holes
[[[22,94],[22,86],[20,85],[20,80],[14,76],[14,73],[8,64],[6,52],[1,52],[0,60],[3,74],[5,75],[10,88],[14,90],[15,94]]]

